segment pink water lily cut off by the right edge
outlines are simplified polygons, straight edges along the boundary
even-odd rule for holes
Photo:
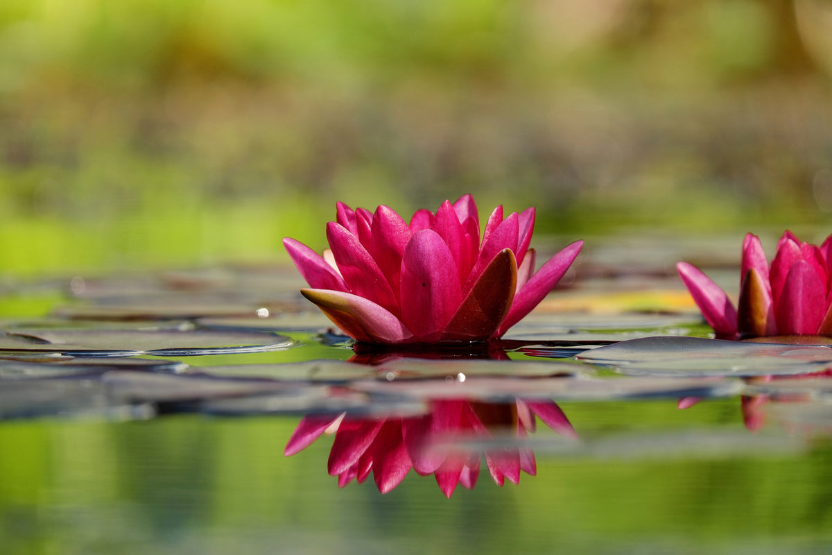
[[[832,235],[816,246],[787,230],[770,265],[760,238],[745,235],[737,307],[695,266],[676,270],[718,338],[832,336]]]

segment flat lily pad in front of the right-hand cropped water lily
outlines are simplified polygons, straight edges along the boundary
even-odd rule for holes
[[[832,362],[832,349],[696,337],[649,337],[606,345],[577,355],[622,374],[759,376],[803,374]]]

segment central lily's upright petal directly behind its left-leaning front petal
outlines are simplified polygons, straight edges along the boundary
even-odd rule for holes
[[[409,225],[392,208],[379,206],[373,216],[372,238],[367,250],[379,265],[381,273],[396,299],[401,287],[402,256],[412,235]]]

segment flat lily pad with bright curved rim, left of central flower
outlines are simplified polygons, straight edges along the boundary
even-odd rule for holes
[[[15,330],[0,337],[0,350],[87,356],[193,356],[254,353],[290,347],[282,335],[219,330]]]

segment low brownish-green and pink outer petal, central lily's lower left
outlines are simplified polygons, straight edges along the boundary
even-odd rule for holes
[[[358,295],[323,289],[302,289],[300,293],[318,305],[329,320],[356,341],[408,343],[413,333],[395,315]]]

